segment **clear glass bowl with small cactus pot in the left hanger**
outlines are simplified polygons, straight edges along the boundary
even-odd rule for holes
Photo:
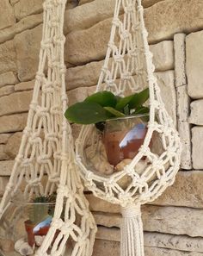
[[[50,228],[54,208],[55,202],[13,200],[0,220],[0,255],[33,255]]]

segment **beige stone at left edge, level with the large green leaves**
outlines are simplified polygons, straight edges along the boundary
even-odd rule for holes
[[[0,116],[28,111],[33,91],[15,92],[0,97]]]

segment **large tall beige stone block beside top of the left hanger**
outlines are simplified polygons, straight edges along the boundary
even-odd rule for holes
[[[34,78],[38,69],[42,26],[15,35],[18,78],[28,81]]]

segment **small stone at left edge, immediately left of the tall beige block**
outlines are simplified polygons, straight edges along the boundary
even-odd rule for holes
[[[7,41],[0,45],[0,73],[15,72],[16,66],[16,53],[13,41]]]

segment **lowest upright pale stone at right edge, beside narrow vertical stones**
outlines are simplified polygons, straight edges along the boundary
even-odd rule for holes
[[[203,127],[192,128],[192,143],[193,143],[193,167],[194,169],[203,169]]]

